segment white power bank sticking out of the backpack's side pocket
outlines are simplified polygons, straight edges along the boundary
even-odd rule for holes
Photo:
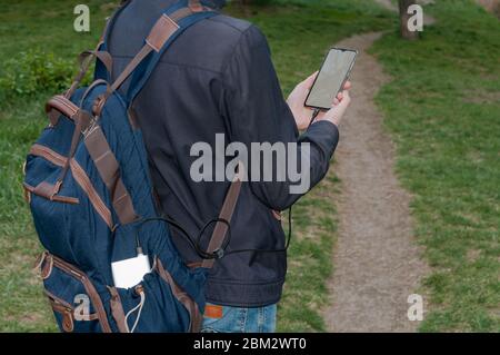
[[[114,286],[119,288],[130,288],[142,282],[146,274],[151,272],[147,255],[138,256],[120,262],[111,263]]]

